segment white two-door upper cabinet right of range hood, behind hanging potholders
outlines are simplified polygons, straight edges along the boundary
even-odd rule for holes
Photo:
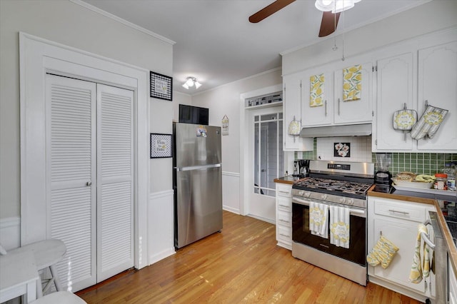
[[[457,41],[440,37],[430,46],[432,40],[377,61],[373,152],[457,152]],[[432,138],[416,140],[409,131],[394,130],[395,111],[414,110],[420,121],[427,105],[448,111]]]

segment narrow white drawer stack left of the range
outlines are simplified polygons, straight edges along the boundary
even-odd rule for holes
[[[276,183],[276,240],[292,250],[292,185]]]

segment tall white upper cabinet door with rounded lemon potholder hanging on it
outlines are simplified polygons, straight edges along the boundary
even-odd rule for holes
[[[413,108],[413,54],[406,53],[377,62],[376,127],[373,151],[411,151],[413,140],[393,129],[393,112],[406,103]],[[376,129],[374,129],[376,128]]]

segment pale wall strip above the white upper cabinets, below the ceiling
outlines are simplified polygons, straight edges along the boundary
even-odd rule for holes
[[[342,39],[345,57],[349,58],[398,41],[455,26],[456,13],[457,1],[434,0],[337,36],[338,50],[336,51],[332,50],[333,36],[323,39],[318,44],[295,51],[284,51],[282,53],[283,75],[341,60]]]

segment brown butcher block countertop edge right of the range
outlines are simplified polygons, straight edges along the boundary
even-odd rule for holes
[[[381,193],[373,191],[374,185],[368,190],[368,196],[378,197],[378,198],[390,198],[393,200],[408,201],[412,203],[426,203],[428,205],[435,206],[436,213],[438,214],[438,222],[440,223],[441,230],[443,230],[444,238],[446,239],[446,245],[448,248],[449,259],[451,260],[454,273],[457,273],[457,248],[456,244],[453,242],[451,231],[444,220],[443,213],[439,207],[438,201],[433,198],[420,198],[416,196],[403,196],[395,193]]]

